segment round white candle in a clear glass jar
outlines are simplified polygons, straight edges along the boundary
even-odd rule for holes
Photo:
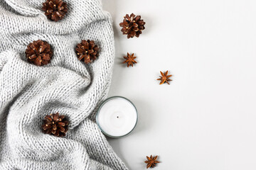
[[[108,98],[97,112],[97,125],[105,135],[122,137],[132,132],[137,124],[137,110],[127,98]]]

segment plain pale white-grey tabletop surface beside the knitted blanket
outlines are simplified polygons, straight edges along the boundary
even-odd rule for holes
[[[129,169],[256,169],[256,1],[103,0],[114,21],[116,61],[109,96],[139,111],[131,135],[110,139]],[[141,15],[146,30],[127,39],[119,23]],[[134,52],[138,64],[122,57]],[[171,85],[159,85],[169,70]]]

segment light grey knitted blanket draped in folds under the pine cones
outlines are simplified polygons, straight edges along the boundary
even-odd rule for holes
[[[110,14],[100,0],[65,0],[63,20],[48,20],[45,0],[0,0],[0,169],[127,169],[95,123],[114,63]],[[78,60],[75,47],[94,40],[100,56]],[[26,60],[33,40],[53,49],[50,64]],[[65,137],[42,132],[50,113],[70,121]]]

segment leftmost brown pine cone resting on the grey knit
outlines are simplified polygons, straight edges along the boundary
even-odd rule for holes
[[[50,45],[46,41],[37,40],[31,42],[26,49],[28,62],[37,66],[46,65],[53,56]]]

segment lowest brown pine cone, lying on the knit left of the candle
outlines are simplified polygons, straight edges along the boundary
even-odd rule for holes
[[[46,134],[63,137],[68,132],[68,120],[59,113],[46,115],[42,128]]]

